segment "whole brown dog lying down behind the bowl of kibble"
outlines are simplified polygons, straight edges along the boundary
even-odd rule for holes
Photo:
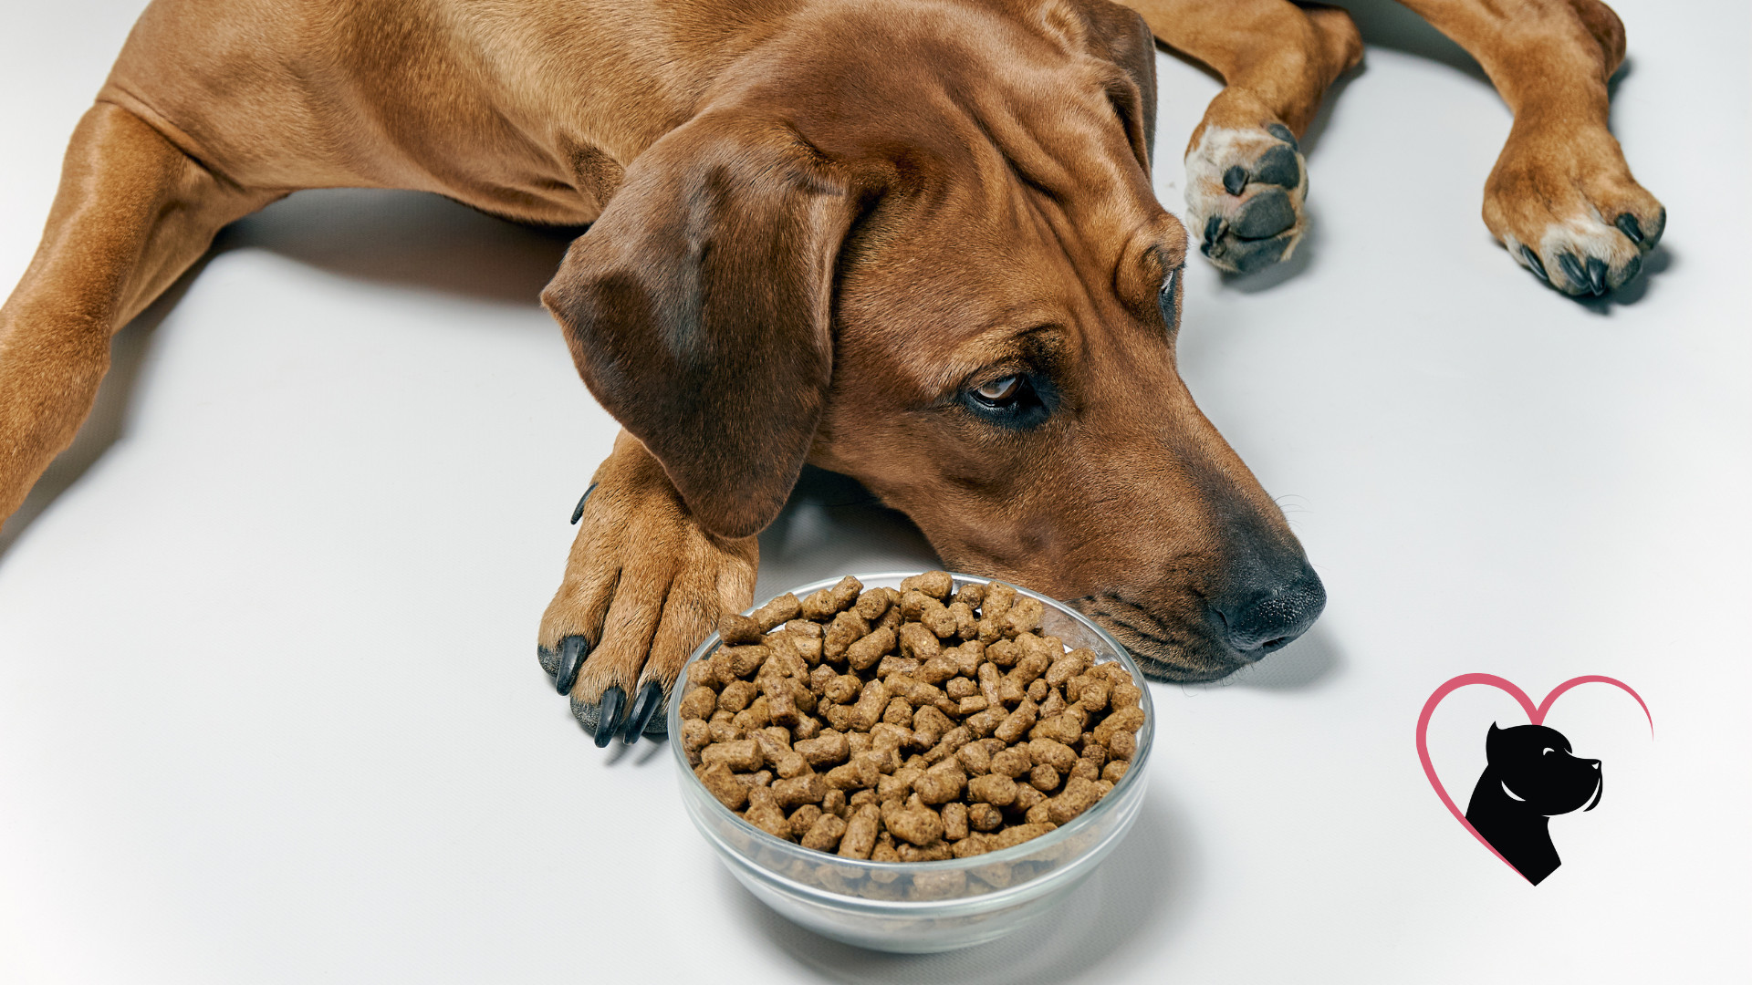
[[[1607,131],[1617,18],[1409,5],[1515,110],[1493,233],[1570,293],[1633,277],[1664,212]],[[599,743],[662,727],[806,461],[950,566],[1077,599],[1153,673],[1223,677],[1325,591],[1176,373],[1186,233],[1149,184],[1151,35],[1228,82],[1188,202],[1232,270],[1300,238],[1296,135],[1361,44],[1286,0],[1134,7],[158,0],[0,310],[0,517],[72,440],[110,335],[221,226],[301,188],[426,189],[592,223],[543,300],[625,431],[540,645]]]

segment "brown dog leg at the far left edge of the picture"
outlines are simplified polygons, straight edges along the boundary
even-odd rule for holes
[[[74,440],[110,335],[273,195],[235,188],[137,116],[86,112],[37,256],[0,307],[0,522]]]

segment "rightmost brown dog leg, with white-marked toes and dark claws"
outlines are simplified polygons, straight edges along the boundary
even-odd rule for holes
[[[1666,209],[1607,128],[1617,14],[1598,0],[1400,2],[1472,53],[1515,114],[1484,182],[1484,224],[1508,256],[1568,294],[1636,277]]]

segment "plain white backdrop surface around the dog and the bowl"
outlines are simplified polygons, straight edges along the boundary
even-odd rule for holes
[[[0,14],[0,284],[137,2]],[[5,981],[1745,981],[1752,685],[1748,9],[1617,4],[1614,126],[1671,223],[1612,301],[1540,287],[1479,191],[1508,116],[1398,7],[1305,140],[1284,270],[1193,259],[1183,370],[1332,596],[1156,685],[1144,817],[1018,939],[901,959],[762,910],[668,755],[604,754],[534,659],[613,424],[536,293],[564,244],[434,198],[300,195],[126,330],[0,535]],[[1216,82],[1160,56],[1158,191]],[[760,592],[923,566],[811,482]],[[1605,761],[1529,887],[1440,806],[1424,698],[1500,673]],[[1431,729],[1465,804],[1501,694]]]

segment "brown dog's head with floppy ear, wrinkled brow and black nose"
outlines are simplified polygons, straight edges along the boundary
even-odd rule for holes
[[[1325,591],[1176,368],[1149,30],[1025,5],[792,25],[627,168],[543,300],[708,529],[757,533],[813,461],[948,566],[1218,678]]]

